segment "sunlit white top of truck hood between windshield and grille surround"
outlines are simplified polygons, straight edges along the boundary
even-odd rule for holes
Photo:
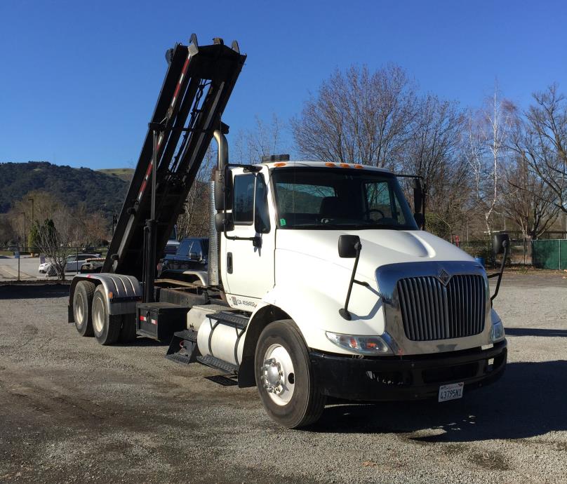
[[[442,238],[421,230],[284,230],[276,236],[276,250],[297,252],[352,270],[352,259],[338,255],[341,235],[358,235],[362,250],[358,276],[374,279],[375,270],[385,264],[400,262],[460,261],[474,262],[473,257]]]

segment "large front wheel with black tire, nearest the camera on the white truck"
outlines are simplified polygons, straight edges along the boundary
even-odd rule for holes
[[[254,367],[260,399],[274,422],[298,429],[321,417],[326,397],[314,381],[307,347],[291,319],[264,328]]]

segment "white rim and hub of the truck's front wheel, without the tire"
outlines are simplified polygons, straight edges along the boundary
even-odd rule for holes
[[[276,405],[287,405],[295,391],[295,370],[288,350],[272,344],[265,352],[260,367],[262,387]]]

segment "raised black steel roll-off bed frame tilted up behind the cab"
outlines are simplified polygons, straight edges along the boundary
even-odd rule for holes
[[[102,272],[142,278],[146,221],[155,221],[153,260],[161,257],[189,189],[216,129],[227,132],[221,115],[246,55],[236,41],[222,39],[199,46],[193,34],[188,46],[166,53],[168,69],[138,165],[128,188]],[[155,214],[151,217],[152,171],[156,132]]]

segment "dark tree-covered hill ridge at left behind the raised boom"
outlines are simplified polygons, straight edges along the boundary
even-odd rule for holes
[[[128,168],[114,171],[125,175]],[[0,163],[0,213],[8,212],[13,201],[22,199],[29,191],[43,190],[69,207],[82,202],[89,212],[102,210],[105,215],[112,215],[119,213],[128,183],[119,175],[47,161]]]

